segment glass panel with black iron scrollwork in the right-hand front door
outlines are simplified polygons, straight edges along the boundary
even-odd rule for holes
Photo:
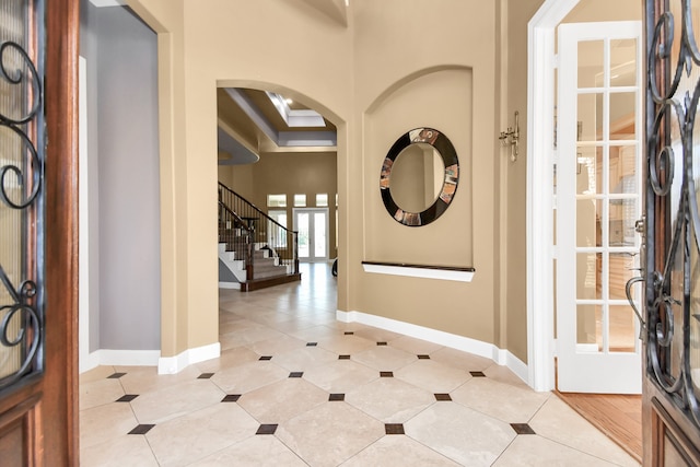
[[[655,249],[664,249],[665,265],[663,271],[652,270],[646,276],[646,371],[670,400],[700,427],[690,355],[691,295],[693,281],[698,281],[693,264],[700,260],[699,194],[693,175],[700,50],[695,39],[691,1],[679,2],[680,36],[675,37],[674,14],[665,11],[648,44],[648,106],[654,109],[653,117],[648,116],[646,121],[649,189],[653,192],[651,199],[675,211],[668,213],[673,222],[670,241],[658,244],[658,237],[648,238],[652,258],[648,264],[653,264]],[[654,1],[646,1],[648,17],[653,17],[653,11]],[[657,208],[649,200],[648,197],[648,215],[654,219]]]

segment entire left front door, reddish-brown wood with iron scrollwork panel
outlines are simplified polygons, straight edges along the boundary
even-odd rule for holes
[[[70,0],[0,12],[0,464],[78,465]]]

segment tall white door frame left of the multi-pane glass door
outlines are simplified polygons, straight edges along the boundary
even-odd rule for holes
[[[527,372],[555,388],[555,30],[579,0],[545,0],[527,24]]]

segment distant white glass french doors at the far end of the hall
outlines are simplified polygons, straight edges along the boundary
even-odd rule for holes
[[[299,260],[328,260],[328,209],[294,208],[294,231],[299,232]]]

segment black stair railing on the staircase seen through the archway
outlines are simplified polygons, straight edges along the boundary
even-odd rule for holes
[[[219,235],[226,249],[245,260],[247,279],[255,279],[255,244],[269,250],[288,273],[299,273],[299,235],[231,188],[219,183]]]

